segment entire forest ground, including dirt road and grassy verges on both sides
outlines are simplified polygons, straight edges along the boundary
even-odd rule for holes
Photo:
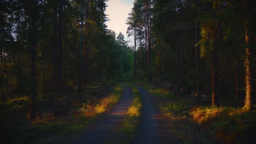
[[[29,97],[0,97],[1,143],[256,143],[256,111],[202,106],[162,86],[77,87]],[[202,104],[202,103],[201,103]]]

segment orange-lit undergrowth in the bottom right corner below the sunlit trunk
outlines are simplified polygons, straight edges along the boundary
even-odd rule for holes
[[[200,106],[191,109],[193,121],[211,129],[219,142],[255,143],[256,111],[240,107]]]

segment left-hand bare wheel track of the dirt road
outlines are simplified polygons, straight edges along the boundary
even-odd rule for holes
[[[123,87],[123,97],[113,107],[112,112],[106,118],[93,124],[83,134],[78,136],[77,139],[70,140],[67,143],[104,143],[111,131],[123,122],[128,107],[132,103],[132,89],[127,86]]]

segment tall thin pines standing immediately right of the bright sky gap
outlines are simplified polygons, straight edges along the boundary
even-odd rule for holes
[[[131,35],[133,32],[134,37],[134,58],[135,58],[135,71],[134,76],[136,76],[136,46],[139,44],[139,64],[140,65],[140,73],[144,73],[148,75],[148,82],[152,81],[151,77],[151,42],[152,42],[152,1],[142,1],[136,0],[134,2],[134,7],[129,14],[130,16],[127,19],[127,24],[129,27],[127,28],[127,33]],[[144,38],[144,44],[143,43]],[[138,43],[136,44],[136,42]],[[144,49],[144,53],[142,53]],[[144,57],[144,63],[142,62],[142,57]],[[142,66],[142,63],[144,64]],[[143,69],[144,67],[144,69]]]

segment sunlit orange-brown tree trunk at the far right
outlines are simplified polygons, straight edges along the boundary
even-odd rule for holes
[[[246,79],[246,98],[245,109],[250,110],[252,105],[252,85],[251,85],[251,19],[253,11],[252,0],[246,0],[246,18],[245,18],[245,42],[246,42],[246,59],[245,59],[245,79]]]

